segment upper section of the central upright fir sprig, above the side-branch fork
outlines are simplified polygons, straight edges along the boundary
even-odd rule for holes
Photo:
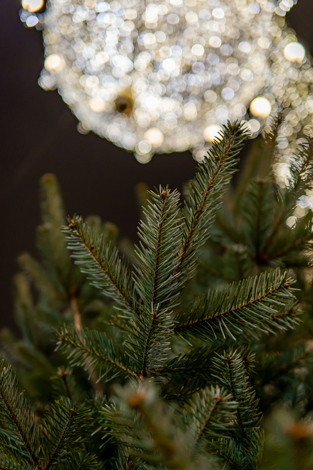
[[[177,253],[181,248],[182,222],[177,219],[179,193],[159,188],[149,191],[150,201],[144,209],[146,222],[141,221],[138,235],[140,248],[136,247],[138,265],[134,282],[147,312],[170,309],[177,299],[179,279],[173,271],[177,267]]]

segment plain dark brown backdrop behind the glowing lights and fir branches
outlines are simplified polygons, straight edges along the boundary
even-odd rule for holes
[[[36,253],[38,179],[44,173],[57,175],[69,214],[99,214],[121,236],[136,240],[136,183],[181,190],[195,168],[190,152],[155,155],[143,165],[93,133],[79,134],[57,91],[38,86],[42,36],[20,22],[20,8],[18,0],[0,0],[0,327],[13,324],[15,259],[23,251]],[[313,0],[298,0],[287,18],[313,53]]]

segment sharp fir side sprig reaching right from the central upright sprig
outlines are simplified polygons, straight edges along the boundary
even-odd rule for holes
[[[286,273],[281,275],[276,269],[229,284],[221,292],[209,291],[207,297],[196,299],[186,312],[176,315],[173,329],[181,335],[204,339],[210,333],[215,338],[225,338],[228,334],[235,339],[234,334],[245,329],[272,332],[273,326],[281,327],[272,314],[294,298],[290,287],[293,282]],[[285,318],[288,321],[288,316]],[[293,323],[290,317],[289,326]]]

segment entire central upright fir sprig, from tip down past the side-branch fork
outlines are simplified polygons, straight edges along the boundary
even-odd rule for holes
[[[159,188],[150,191],[150,202],[138,228],[141,239],[136,247],[138,265],[134,283],[142,299],[140,316],[129,322],[130,334],[126,345],[141,375],[160,367],[167,357],[172,321],[169,313],[175,305],[179,290],[179,276],[173,275],[177,266],[177,252],[181,247],[181,221],[177,219],[179,193]]]

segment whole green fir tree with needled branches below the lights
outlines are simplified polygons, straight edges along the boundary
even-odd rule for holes
[[[22,339],[1,333],[0,469],[312,468],[312,211],[293,214],[313,138],[282,184],[282,125],[232,186],[237,123],[182,209],[176,190],[149,191],[132,263],[110,224],[66,224],[41,180],[42,262],[22,255],[15,278]]]

